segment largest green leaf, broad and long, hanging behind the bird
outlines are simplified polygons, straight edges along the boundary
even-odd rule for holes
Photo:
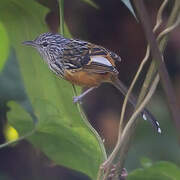
[[[25,91],[38,118],[36,131],[28,139],[54,163],[95,179],[105,159],[104,149],[73,104],[71,84],[50,72],[35,49],[21,44],[48,31],[46,13],[47,9],[32,0],[0,1],[0,21],[8,32]],[[30,132],[34,127],[32,117],[14,102],[10,107],[8,119],[13,127],[21,136]]]

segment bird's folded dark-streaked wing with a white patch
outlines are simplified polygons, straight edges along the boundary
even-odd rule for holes
[[[95,73],[117,73],[115,62],[121,61],[115,53],[80,40],[72,40],[63,50],[63,63],[67,69],[87,70]]]

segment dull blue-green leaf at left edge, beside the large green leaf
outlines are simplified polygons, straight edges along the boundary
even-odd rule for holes
[[[0,85],[0,102],[6,103],[11,100],[17,101],[27,112],[29,112],[35,122],[37,119],[25,91],[16,52],[13,48],[11,48],[9,57],[0,74]]]

